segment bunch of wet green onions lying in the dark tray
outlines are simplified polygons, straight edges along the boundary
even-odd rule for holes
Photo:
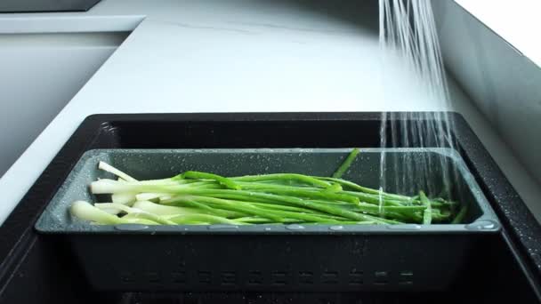
[[[359,149],[354,148],[332,178],[299,173],[223,177],[188,171],[161,180],[135,180],[100,162],[117,180],[93,181],[93,194],[110,194],[112,203],[77,201],[70,211],[79,220],[101,225],[393,225],[459,223],[467,208],[443,198],[383,193],[341,176]],[[380,202],[382,205],[380,206]],[[459,210],[458,212],[456,212]]]

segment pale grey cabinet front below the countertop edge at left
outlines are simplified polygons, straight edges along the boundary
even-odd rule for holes
[[[0,176],[125,36],[0,35]]]

